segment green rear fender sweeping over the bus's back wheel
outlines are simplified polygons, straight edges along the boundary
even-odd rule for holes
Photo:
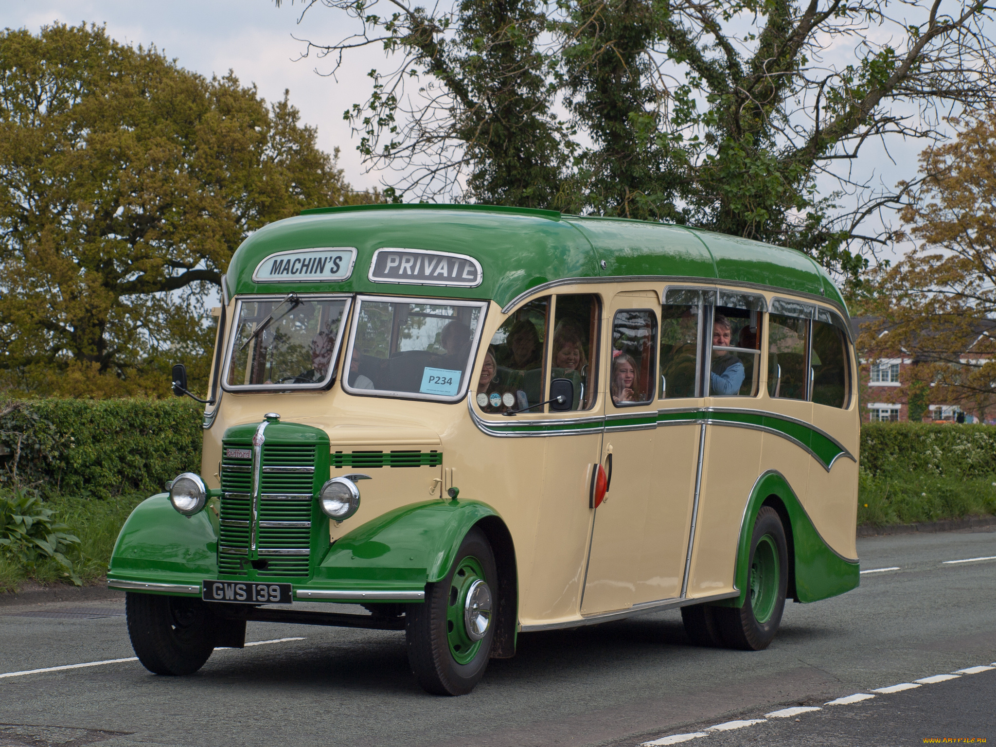
[[[861,579],[859,562],[843,557],[824,541],[788,481],[780,472],[771,470],[761,475],[754,484],[744,510],[734,575],[734,584],[740,590],[740,596],[715,604],[721,607],[742,607],[746,601],[754,521],[761,506],[772,496],[781,500],[781,507],[774,507],[776,510],[784,509],[779,510],[779,513],[782,514],[783,521],[788,518],[792,528],[792,536],[788,538],[789,562],[794,564],[796,601],[816,602],[856,589]]]

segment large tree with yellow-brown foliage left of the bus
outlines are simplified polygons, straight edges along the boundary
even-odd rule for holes
[[[8,29],[0,71],[0,370],[23,391],[162,393],[175,361],[203,381],[203,307],[242,240],[377,199],[286,92],[268,107],[103,28]]]

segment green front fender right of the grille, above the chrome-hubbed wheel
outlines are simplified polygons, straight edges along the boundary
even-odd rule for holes
[[[498,514],[479,501],[426,501],[388,511],[337,540],[313,583],[421,589],[446,576],[464,536],[489,516]]]

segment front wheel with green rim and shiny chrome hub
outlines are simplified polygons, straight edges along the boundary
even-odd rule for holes
[[[408,662],[426,692],[464,695],[484,676],[498,608],[494,553],[479,529],[463,538],[449,574],[425,586],[405,615]]]

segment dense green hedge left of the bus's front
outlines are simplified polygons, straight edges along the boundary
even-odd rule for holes
[[[0,484],[107,498],[199,471],[202,405],[189,399],[37,399],[0,417]]]

